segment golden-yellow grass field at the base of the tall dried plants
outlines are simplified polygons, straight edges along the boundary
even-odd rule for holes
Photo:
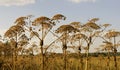
[[[81,60],[82,59],[82,60]],[[67,55],[66,70],[84,70],[86,57],[79,58],[77,54]],[[107,56],[89,56],[88,70],[115,70],[113,57],[110,57],[109,66]],[[120,56],[117,56],[118,70],[120,70]],[[15,70],[41,70],[40,56],[18,56],[15,62]],[[45,70],[64,70],[63,56],[60,54],[47,55],[45,57]],[[0,57],[0,70],[13,70],[12,57]]]

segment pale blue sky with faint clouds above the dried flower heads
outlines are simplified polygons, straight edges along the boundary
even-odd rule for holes
[[[20,16],[52,17],[58,13],[67,17],[65,23],[84,23],[96,17],[98,23],[110,23],[120,30],[120,0],[0,0],[0,34]]]

